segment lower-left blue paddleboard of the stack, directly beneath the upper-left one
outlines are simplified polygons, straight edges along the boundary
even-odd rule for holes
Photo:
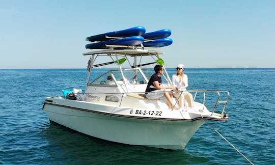
[[[87,44],[85,47],[87,49],[107,49],[110,47],[107,47],[106,45],[135,46],[135,45],[140,45],[143,42],[144,42],[144,38],[142,36],[132,36],[132,37],[126,37],[126,38],[117,39],[117,40],[91,43],[91,44]]]

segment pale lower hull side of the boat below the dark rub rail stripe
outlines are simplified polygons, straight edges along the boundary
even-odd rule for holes
[[[43,110],[50,121],[103,140],[172,150],[184,149],[205,123],[204,120],[172,121],[114,116],[88,108],[47,102]]]

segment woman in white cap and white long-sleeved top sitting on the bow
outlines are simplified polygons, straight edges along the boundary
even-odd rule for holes
[[[193,96],[189,92],[182,92],[186,91],[188,87],[188,76],[184,74],[184,65],[179,64],[176,69],[177,74],[172,76],[172,86],[176,88],[177,92],[174,92],[173,96],[179,98],[178,103],[180,107],[193,107]]]

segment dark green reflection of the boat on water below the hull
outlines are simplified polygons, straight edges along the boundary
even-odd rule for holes
[[[186,150],[164,150],[132,146],[97,139],[50,122],[45,130],[50,159],[56,163],[81,164],[188,164],[204,157],[194,157]],[[125,137],[127,138],[127,137]]]

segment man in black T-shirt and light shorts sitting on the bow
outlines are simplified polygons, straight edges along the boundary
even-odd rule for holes
[[[155,73],[151,76],[146,91],[146,97],[148,99],[156,99],[156,98],[163,98],[165,97],[168,102],[168,107],[173,107],[173,101],[172,101],[172,93],[169,94],[168,92],[165,92],[167,89],[171,89],[172,91],[175,90],[175,87],[163,87],[161,85],[161,75],[163,75],[164,69],[162,65],[156,65],[154,67]],[[154,91],[154,92],[152,92]],[[178,109],[177,106],[174,107],[174,109]]]

